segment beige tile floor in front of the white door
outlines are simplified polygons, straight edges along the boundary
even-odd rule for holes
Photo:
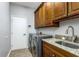
[[[32,57],[28,49],[18,49],[11,51],[9,57]]]

